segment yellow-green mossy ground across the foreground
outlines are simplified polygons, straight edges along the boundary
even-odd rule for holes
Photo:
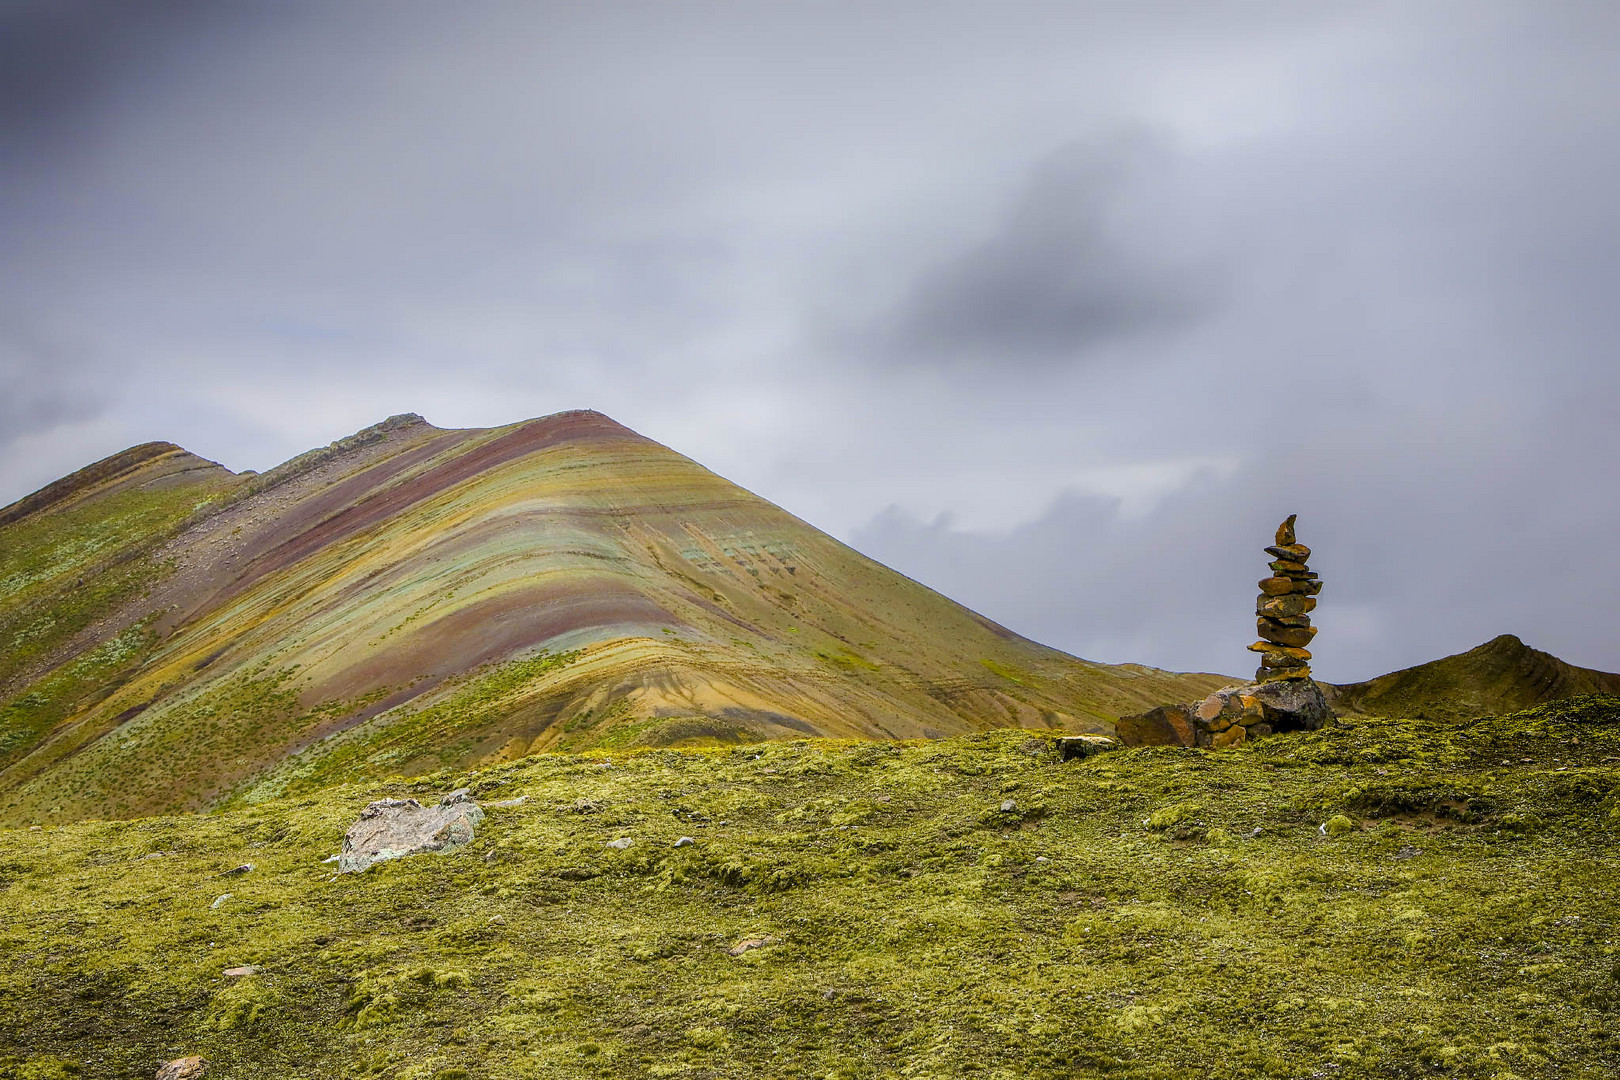
[[[454,855],[321,861],[368,800],[462,784],[526,801]],[[1617,834],[1614,698],[1071,763],[1016,730],[549,755],[10,829],[0,1077],[1607,1078]]]

